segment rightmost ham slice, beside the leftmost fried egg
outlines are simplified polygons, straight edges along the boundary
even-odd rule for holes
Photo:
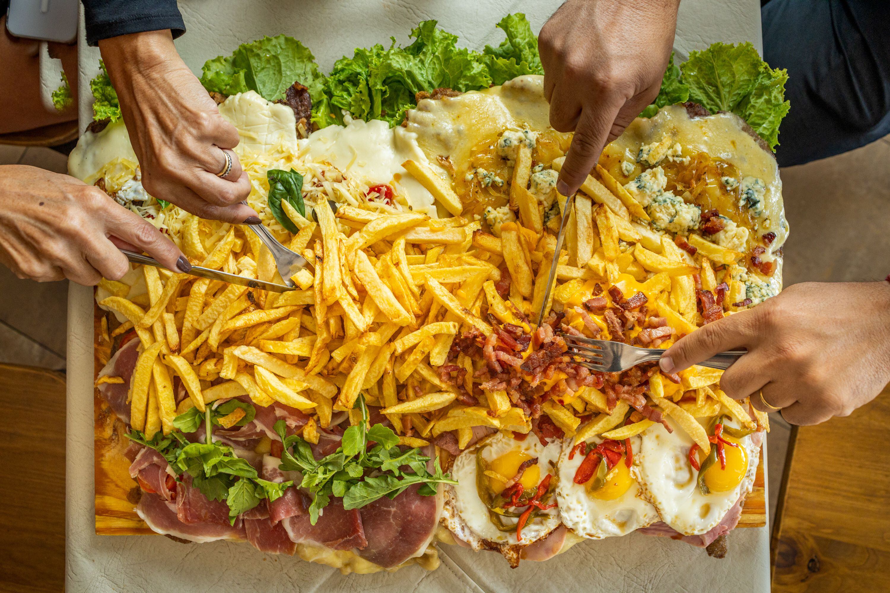
[[[433,541],[441,515],[442,495],[423,496],[409,486],[392,501],[385,496],[360,509],[368,546],[356,553],[384,568],[421,556]]]

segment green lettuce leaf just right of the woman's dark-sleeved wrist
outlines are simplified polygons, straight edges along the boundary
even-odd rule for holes
[[[279,100],[284,99],[287,87],[295,82],[309,88],[313,121],[317,117],[326,119],[326,77],[312,52],[293,37],[263,37],[241,44],[230,56],[207,60],[201,68],[204,88],[227,95],[256,91],[265,100]]]

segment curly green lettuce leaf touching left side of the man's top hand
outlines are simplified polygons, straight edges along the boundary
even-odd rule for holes
[[[498,47],[485,46],[483,60],[491,84],[506,81],[525,74],[544,74],[538,54],[538,37],[531,32],[531,25],[522,12],[508,14],[498,22],[498,28],[506,33],[506,39]]]

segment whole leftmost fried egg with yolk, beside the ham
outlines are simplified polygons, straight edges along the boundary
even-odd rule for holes
[[[505,490],[504,480],[514,478],[523,461],[537,459],[538,463],[524,470],[519,484],[525,493],[534,492],[549,474],[550,486],[541,500],[545,504],[555,502],[554,474],[561,448],[555,439],[542,444],[534,433],[519,441],[509,433],[498,432],[458,455],[451,469],[457,485],[445,492],[445,526],[473,549],[498,549],[508,560],[515,557],[518,562],[522,547],[546,537],[560,525],[560,514],[556,507],[535,511],[517,540],[518,516],[527,507],[514,509],[503,504],[504,497],[499,495]]]

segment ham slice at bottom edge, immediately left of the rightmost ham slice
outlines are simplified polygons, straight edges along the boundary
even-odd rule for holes
[[[368,545],[358,509],[344,509],[339,498],[331,499],[315,525],[309,522],[309,513],[287,517],[281,525],[295,543],[316,543],[330,549],[361,549]]]

